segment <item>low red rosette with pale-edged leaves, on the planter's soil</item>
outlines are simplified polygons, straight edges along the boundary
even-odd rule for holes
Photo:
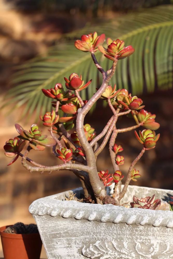
[[[133,196],[133,202],[130,203],[132,208],[142,208],[142,209],[150,209],[150,210],[158,210],[161,205],[161,200],[154,200],[155,195],[152,197],[145,197],[138,199],[136,196]]]

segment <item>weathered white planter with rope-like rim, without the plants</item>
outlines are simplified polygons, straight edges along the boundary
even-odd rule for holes
[[[81,188],[73,190],[77,197]],[[173,191],[129,186],[123,202]],[[49,259],[171,259],[173,212],[65,201],[69,191],[34,201],[29,211]],[[63,199],[63,200],[62,200]]]

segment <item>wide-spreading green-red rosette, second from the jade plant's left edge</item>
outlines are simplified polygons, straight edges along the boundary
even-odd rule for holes
[[[32,149],[43,151],[45,147],[51,147],[56,145],[56,141],[52,138],[48,138],[47,135],[41,135],[42,131],[38,129],[37,124],[32,124],[31,129],[24,130],[19,124],[15,124],[17,132],[20,134],[19,139],[29,140],[29,145]]]

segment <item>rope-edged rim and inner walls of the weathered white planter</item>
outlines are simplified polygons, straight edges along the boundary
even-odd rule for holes
[[[112,186],[113,189],[113,186]],[[111,190],[109,190],[111,192]],[[112,204],[88,204],[79,203],[77,201],[66,201],[65,196],[69,192],[76,193],[80,197],[82,188],[77,188],[71,191],[62,192],[57,195],[48,196],[35,200],[29,207],[29,212],[33,215],[43,216],[50,215],[52,217],[61,216],[63,218],[86,219],[89,221],[113,222],[152,225],[154,227],[173,228],[173,212],[162,210],[149,210],[140,208],[125,208],[122,206],[114,206]],[[129,186],[126,195],[122,199],[122,203],[131,201],[133,195],[137,197],[146,197],[155,194],[156,198],[168,197],[168,194],[173,195],[171,190]]]

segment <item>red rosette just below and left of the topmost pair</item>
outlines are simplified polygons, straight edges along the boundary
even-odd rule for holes
[[[82,80],[82,76],[78,76],[78,74],[76,73],[72,73],[69,76],[69,79],[67,79],[66,77],[64,77],[65,80],[65,86],[67,89],[69,90],[77,90],[78,92],[81,90],[86,89],[92,82],[92,79],[89,80],[85,85],[84,85],[84,80]]]

